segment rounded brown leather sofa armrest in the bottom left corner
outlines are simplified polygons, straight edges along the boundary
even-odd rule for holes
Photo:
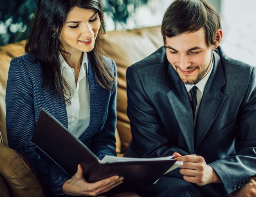
[[[45,197],[38,176],[27,159],[1,144],[0,166],[0,177],[9,189],[11,196]]]

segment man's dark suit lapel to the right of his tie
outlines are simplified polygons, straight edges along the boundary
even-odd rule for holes
[[[220,57],[216,52],[213,52],[213,57],[213,71],[205,86],[198,109],[197,122],[195,126],[195,148],[198,147],[206,133],[209,131],[227,98],[227,95],[221,91],[221,88],[226,82]]]

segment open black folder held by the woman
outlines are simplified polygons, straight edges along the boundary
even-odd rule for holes
[[[90,149],[74,137],[52,115],[42,109],[32,142],[72,177],[77,165],[83,166],[88,182],[118,175],[128,186],[148,186],[161,177],[173,164],[173,159],[102,163]],[[117,157],[118,159],[119,157]]]

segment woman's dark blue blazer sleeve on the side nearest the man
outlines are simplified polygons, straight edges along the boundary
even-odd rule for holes
[[[92,151],[99,159],[103,159],[105,155],[116,156],[115,130],[117,125],[117,66],[112,60],[114,68],[115,87],[110,93],[108,101],[108,114],[105,124],[101,131],[92,139]]]

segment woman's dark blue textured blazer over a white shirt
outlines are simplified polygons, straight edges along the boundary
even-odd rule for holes
[[[109,58],[105,60],[117,77],[115,62]],[[115,91],[103,89],[95,78],[90,61],[88,61],[88,81],[90,124],[79,139],[99,159],[102,159],[105,155],[116,155],[117,83],[115,83]],[[54,92],[54,89],[52,91]],[[36,169],[43,186],[56,196],[70,176],[47,158],[43,159],[38,154],[35,144],[31,142],[42,108],[68,128],[65,102],[57,96],[52,97],[43,89],[40,62],[35,61],[31,53],[14,58],[10,64],[6,91],[6,127],[9,146],[27,157]]]

